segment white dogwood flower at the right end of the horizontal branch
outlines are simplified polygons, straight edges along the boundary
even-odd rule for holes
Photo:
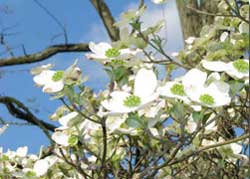
[[[129,59],[135,56],[137,53],[141,52],[141,50],[131,50],[129,48],[117,49],[113,48],[110,44],[105,42],[100,42],[95,44],[94,42],[89,43],[89,48],[92,53],[88,53],[86,55],[89,59],[102,60],[102,62],[106,63],[110,59]]]

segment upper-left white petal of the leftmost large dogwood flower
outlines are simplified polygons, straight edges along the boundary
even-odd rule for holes
[[[55,71],[52,70],[44,70],[40,74],[34,76],[33,80],[38,86],[43,86],[47,83],[52,82],[52,77],[55,74]]]

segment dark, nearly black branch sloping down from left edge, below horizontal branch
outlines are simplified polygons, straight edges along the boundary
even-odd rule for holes
[[[18,119],[27,121],[33,125],[40,127],[44,132],[54,132],[56,126],[44,122],[34,116],[29,109],[20,101],[8,96],[1,96],[0,103],[4,104],[10,114]]]

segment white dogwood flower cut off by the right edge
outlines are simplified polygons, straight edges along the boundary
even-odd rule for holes
[[[202,66],[210,71],[226,72],[229,76],[236,79],[247,79],[249,77],[249,61],[235,60],[229,63],[222,61],[202,60]]]

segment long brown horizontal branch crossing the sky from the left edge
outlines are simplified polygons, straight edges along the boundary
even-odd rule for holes
[[[12,57],[12,58],[7,58],[7,59],[0,59],[0,67],[35,63],[35,62],[46,60],[49,57],[56,55],[57,53],[88,52],[88,51],[89,51],[89,47],[87,43],[53,45],[37,53],[19,56],[19,57]]]

